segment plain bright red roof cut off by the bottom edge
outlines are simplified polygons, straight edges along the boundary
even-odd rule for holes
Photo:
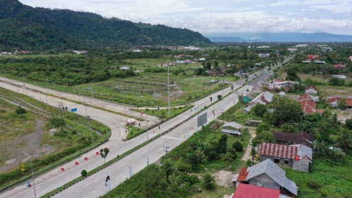
[[[279,198],[280,190],[240,183],[231,198]]]

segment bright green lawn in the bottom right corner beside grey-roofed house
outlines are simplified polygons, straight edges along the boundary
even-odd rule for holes
[[[336,197],[346,198],[352,194],[352,156],[347,154],[345,161],[324,161],[313,158],[313,169],[310,173],[294,171],[284,168],[286,176],[299,187],[298,197]],[[308,183],[314,181],[321,185],[312,189]]]

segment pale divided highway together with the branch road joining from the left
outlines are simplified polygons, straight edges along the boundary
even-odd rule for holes
[[[259,74],[259,73],[258,73]],[[270,75],[270,72],[267,74]],[[268,77],[267,76],[267,77]],[[249,76],[249,80],[253,78],[254,75]],[[9,80],[0,78],[2,80]],[[265,77],[258,77],[253,82],[249,84],[255,85],[257,82],[264,80]],[[22,82],[16,82],[11,80],[13,83],[18,83],[19,85],[23,84]],[[235,89],[237,89],[240,85],[243,85],[244,81],[240,81],[234,85]],[[40,94],[37,92],[32,92],[27,89],[21,90],[21,88],[17,86],[12,86],[6,83],[1,83],[2,87],[11,89],[13,91],[23,91],[25,94],[33,96],[37,100],[46,102],[47,95]],[[36,87],[34,85],[25,85],[31,86],[31,88],[41,89],[42,92],[46,92],[46,88]],[[247,89],[251,91],[253,86],[244,86],[239,89],[239,93],[247,92]],[[77,96],[74,94],[69,93],[62,93],[59,91],[48,90],[49,93],[58,95],[60,97],[69,98],[70,100],[74,101],[81,101],[82,96]],[[175,124],[180,123],[181,121],[186,120],[191,114],[199,111],[199,109],[203,108],[204,106],[209,107],[211,96],[213,101],[217,100],[218,94],[227,94],[231,91],[231,88],[226,88],[224,90],[218,91],[213,93],[209,96],[202,98],[201,100],[194,102],[194,109],[191,111],[184,112],[183,114],[170,119],[169,121],[160,125],[160,131],[158,126],[155,128],[150,129],[147,133],[144,133],[134,139],[129,141],[123,142],[121,138],[123,137],[124,133],[124,121],[126,120],[125,117],[112,114],[106,111],[85,107],[82,105],[77,105],[76,103],[72,103],[66,100],[59,99],[57,97],[48,96],[48,104],[57,107],[59,102],[63,102],[64,106],[67,106],[69,109],[77,108],[77,113],[81,115],[85,115],[85,108],[87,108],[88,115],[92,115],[92,119],[98,120],[112,129],[112,136],[108,142],[101,145],[100,147],[109,147],[110,153],[106,158],[106,161],[113,159],[117,155],[128,151],[129,149],[135,147],[136,145],[146,141],[148,138],[158,134],[159,132],[164,132],[167,129],[173,127]],[[45,99],[44,99],[45,98]],[[109,102],[104,102],[97,100],[95,98],[85,98],[87,103],[91,103],[91,105],[100,106],[100,107],[109,107],[109,109],[113,109],[114,111],[123,112],[125,107],[122,105],[117,105]],[[209,107],[206,111],[208,122],[212,121],[217,116],[221,116],[222,111],[226,111],[227,109],[231,108],[234,104],[238,102],[238,96],[236,94],[232,94],[229,97],[224,98],[219,103],[216,103],[214,106]],[[107,108],[108,109],[108,108]],[[122,111],[121,111],[122,110]],[[215,110],[215,116],[212,114],[212,111]],[[133,114],[133,112],[131,112]],[[153,118],[157,120],[157,118]],[[148,116],[149,120],[149,116]],[[155,121],[157,122],[157,121]],[[55,197],[97,197],[99,195],[105,194],[105,178],[107,175],[111,177],[111,188],[116,187],[122,181],[129,177],[128,174],[128,167],[131,167],[132,173],[135,174],[138,171],[142,170],[144,167],[147,166],[147,156],[150,163],[157,161],[160,157],[162,157],[165,152],[163,151],[164,147],[168,145],[169,149],[173,149],[182,141],[186,140],[189,136],[191,136],[194,132],[198,130],[197,118],[190,119],[186,123],[180,125],[178,128],[170,131],[169,133],[163,135],[162,137],[158,138],[157,140],[153,141],[152,143],[144,146],[142,149],[134,152],[133,154],[125,157],[124,159],[114,163],[113,165],[99,171],[98,173],[86,178],[77,184],[67,188],[66,190],[62,191],[61,193],[57,194]],[[96,149],[97,151],[99,148]],[[39,175],[35,177],[35,188],[36,188],[36,195],[39,197],[65,183],[71,181],[74,178],[80,176],[81,170],[90,171],[95,167],[104,163],[104,160],[95,154],[95,150],[88,152],[77,159],[68,162],[61,167],[65,169],[65,171],[61,171],[60,168],[53,169],[45,174]],[[87,157],[88,160],[84,161],[83,158]],[[75,165],[74,163],[78,162],[79,165]],[[6,191],[0,193],[1,197],[33,197],[33,189],[28,188],[25,186],[25,183],[11,187]]]

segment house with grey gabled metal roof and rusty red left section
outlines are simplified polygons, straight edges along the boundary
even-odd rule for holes
[[[296,183],[285,176],[282,170],[273,161],[267,159],[251,167],[245,167],[237,177],[237,186],[240,183],[280,190],[282,194],[297,196]]]

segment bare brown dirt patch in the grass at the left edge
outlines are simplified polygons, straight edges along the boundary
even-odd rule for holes
[[[21,162],[29,160],[28,156],[22,154],[22,151],[33,157],[38,157],[40,155],[40,141],[43,134],[41,126],[45,124],[45,121],[41,119],[36,119],[35,121],[36,126],[32,133],[2,143],[0,146],[0,152],[5,154],[6,162],[0,167],[0,173],[5,173],[19,167]]]

